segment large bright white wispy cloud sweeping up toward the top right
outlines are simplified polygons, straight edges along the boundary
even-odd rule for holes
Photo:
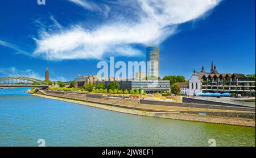
[[[138,56],[142,52],[131,45],[158,45],[175,34],[179,24],[200,18],[221,0],[216,0],[216,5],[208,0],[128,0],[125,3],[116,0],[101,5],[68,1],[91,11],[105,11],[109,18],[90,31],[80,26],[51,34],[44,31],[36,39],[34,56],[47,60]]]

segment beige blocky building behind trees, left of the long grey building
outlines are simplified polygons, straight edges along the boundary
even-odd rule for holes
[[[82,88],[84,84],[96,83],[98,81],[97,75],[82,76],[75,78],[75,88]]]

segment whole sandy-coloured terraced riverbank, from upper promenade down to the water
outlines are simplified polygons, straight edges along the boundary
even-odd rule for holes
[[[195,107],[163,106],[140,103],[129,98],[108,97],[101,94],[70,93],[40,90],[33,95],[61,101],[74,102],[121,113],[147,117],[191,120],[209,123],[233,124],[255,127],[255,109],[204,109]],[[213,106],[214,107],[214,106]]]

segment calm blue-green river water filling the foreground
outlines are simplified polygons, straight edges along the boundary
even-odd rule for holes
[[[254,146],[255,127],[142,117],[0,89],[0,146]]]

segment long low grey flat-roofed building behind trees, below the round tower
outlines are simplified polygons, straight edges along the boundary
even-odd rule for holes
[[[105,88],[108,88],[110,81],[104,81]],[[146,93],[170,92],[169,80],[146,80],[146,81],[117,81],[122,90],[141,89]],[[96,84],[100,83],[99,81]]]

